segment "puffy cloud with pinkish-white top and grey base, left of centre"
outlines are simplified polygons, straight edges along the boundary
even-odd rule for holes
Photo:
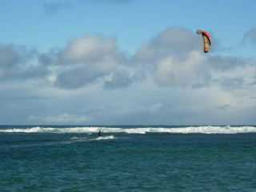
[[[116,77],[118,72],[115,71],[125,64],[126,57],[118,50],[114,38],[86,35],[71,41],[58,53],[59,72],[55,85],[78,89],[110,75]]]

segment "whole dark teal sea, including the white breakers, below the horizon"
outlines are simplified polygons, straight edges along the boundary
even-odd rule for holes
[[[256,191],[256,126],[0,126],[0,191]]]

